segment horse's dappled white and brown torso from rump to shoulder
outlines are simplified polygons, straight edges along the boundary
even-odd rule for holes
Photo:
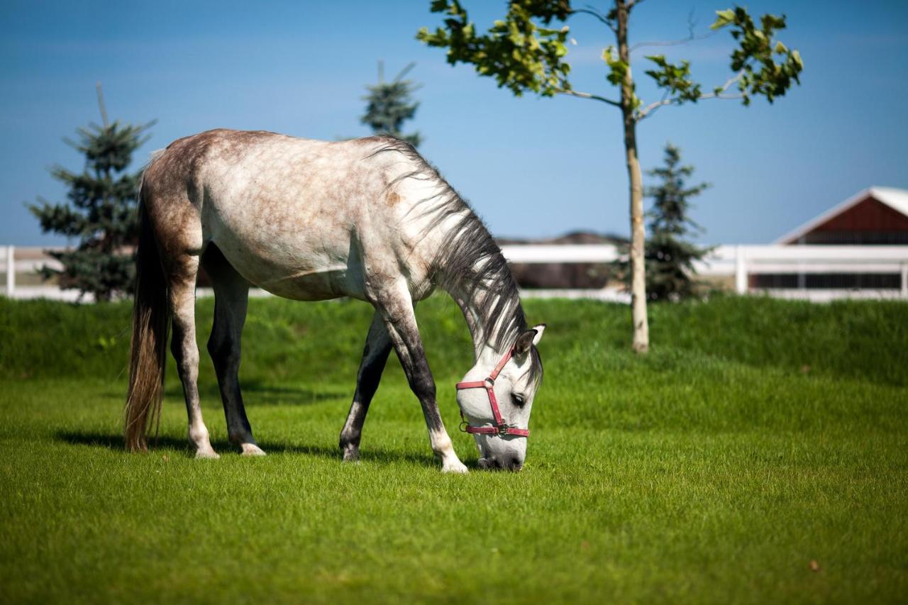
[[[408,208],[390,183],[407,160],[377,154],[387,141],[195,134],[149,166],[143,203],[159,218],[165,249],[201,253],[215,243],[243,277],[272,293],[363,298],[368,271],[393,272],[406,247],[399,240]]]

